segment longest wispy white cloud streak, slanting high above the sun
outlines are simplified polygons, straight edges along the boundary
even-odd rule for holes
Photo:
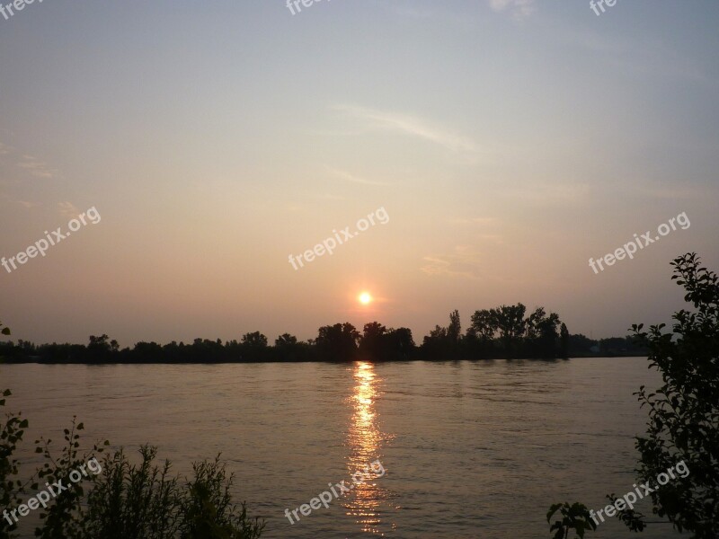
[[[335,105],[333,110],[338,110],[351,119],[364,122],[369,128],[396,131],[423,138],[452,152],[469,154],[479,152],[479,147],[473,140],[451,133],[445,128],[431,125],[424,119],[355,105]]]

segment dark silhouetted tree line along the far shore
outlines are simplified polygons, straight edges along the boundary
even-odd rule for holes
[[[417,345],[409,328],[366,323],[360,332],[351,323],[326,325],[315,339],[297,340],[284,333],[271,345],[260,331],[241,340],[195,339],[191,343],[138,342],[120,349],[108,335],[91,335],[87,345],[42,344],[19,340],[0,343],[0,360],[7,363],[251,363],[272,361],[408,361],[446,359],[642,356],[646,349],[631,337],[591,340],[572,335],[556,313],[544,307],[501,305],[475,311],[462,332],[458,311],[447,326],[437,325]]]

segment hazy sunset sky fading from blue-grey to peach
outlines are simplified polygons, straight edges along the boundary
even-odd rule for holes
[[[76,229],[0,267],[13,339],[419,343],[517,302],[597,339],[670,322],[680,254],[719,270],[715,0],[308,4],[0,15],[0,256]]]

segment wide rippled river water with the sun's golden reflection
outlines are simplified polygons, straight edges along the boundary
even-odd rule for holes
[[[0,366],[26,440],[150,442],[180,473],[222,453],[263,537],[549,537],[554,502],[633,490],[644,358],[370,365]],[[31,445],[22,454],[35,462]],[[371,462],[382,477],[290,525],[284,516]],[[337,489],[335,489],[337,490]],[[648,504],[638,506],[651,513]],[[291,513],[290,513],[291,514]],[[657,520],[656,517],[650,518]],[[614,521],[588,537],[635,537]],[[679,537],[650,526],[644,538]]]

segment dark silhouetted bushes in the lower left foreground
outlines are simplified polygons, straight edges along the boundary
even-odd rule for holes
[[[0,407],[11,395],[2,394]],[[38,513],[35,536],[41,539],[257,539],[262,534],[264,523],[248,517],[244,504],[238,508],[232,503],[233,476],[227,475],[219,455],[193,464],[193,475],[184,482],[170,475],[169,462],[155,464],[156,448],[151,446],[140,448],[139,464],[131,464],[120,448],[100,466],[95,457],[109,442],[81,453],[84,426],[74,419],[71,429],[65,429],[59,455],[54,455],[51,440],[35,442],[44,464],[22,482],[13,453],[28,426],[28,420],[13,413],[0,423],[0,507],[8,509],[8,517],[0,518],[0,539],[18,537],[12,509],[17,511],[31,493],[37,494],[43,482],[65,484],[52,498],[48,494],[47,507]],[[91,460],[97,466],[92,469],[95,475],[67,481],[71,473],[91,468]]]

